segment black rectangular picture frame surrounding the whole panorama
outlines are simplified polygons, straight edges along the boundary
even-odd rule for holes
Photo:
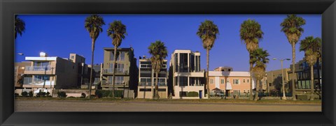
[[[335,0],[1,0],[1,125],[335,125]],[[322,112],[14,112],[15,14],[321,14]]]

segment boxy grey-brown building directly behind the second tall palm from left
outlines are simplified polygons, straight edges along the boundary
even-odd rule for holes
[[[113,70],[116,70],[115,90],[123,92],[123,97],[137,97],[134,90],[138,86],[137,58],[134,58],[133,48],[118,48],[116,65],[114,63],[114,48],[104,48],[104,63],[102,66],[102,90],[113,89]]]

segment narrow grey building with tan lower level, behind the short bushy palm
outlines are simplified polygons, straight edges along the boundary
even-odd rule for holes
[[[151,58],[139,59],[139,86],[137,98],[153,98],[155,94],[156,75],[152,69]],[[160,98],[168,97],[167,88],[167,60],[163,61],[162,69],[158,74],[158,91]]]

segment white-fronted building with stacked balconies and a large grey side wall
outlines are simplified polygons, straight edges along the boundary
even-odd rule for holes
[[[85,58],[77,54],[70,54],[70,58],[60,58],[41,52],[40,56],[27,56],[25,60],[30,62],[25,67],[22,86],[27,92],[31,90],[38,93],[41,90],[52,94],[54,89],[79,88],[78,77],[87,74],[78,72],[80,64],[85,64]]]

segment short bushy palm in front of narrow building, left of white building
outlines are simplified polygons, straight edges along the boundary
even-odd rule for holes
[[[148,47],[149,54],[152,55],[151,62],[152,62],[152,69],[155,72],[155,95],[154,99],[159,99],[159,84],[158,84],[158,77],[159,72],[162,68],[163,61],[168,56],[167,47],[165,47],[165,43],[161,42],[160,40],[157,40],[155,42],[152,42],[151,45]]]

